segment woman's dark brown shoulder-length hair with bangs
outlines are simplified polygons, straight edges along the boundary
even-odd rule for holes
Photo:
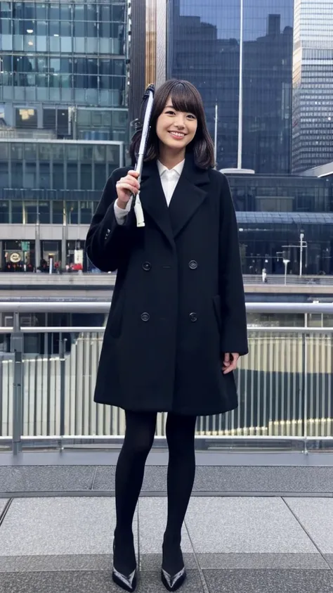
[[[152,117],[150,120],[150,134],[148,136],[145,161],[155,160],[159,155],[159,139],[156,133],[156,124],[159,115],[161,115],[166,101],[171,98],[176,111],[192,113],[197,117],[197,132],[192,142],[186,147],[187,152],[192,152],[195,164],[200,169],[209,169],[214,167],[214,144],[207,129],[206,116],[204,115],[204,105],[200,92],[186,80],[167,80],[155,91],[154,104],[152,107]],[[142,117],[142,116],[141,116]],[[141,122],[142,125],[143,122]],[[137,132],[131,139],[129,152],[133,165],[136,162],[138,148],[140,146],[142,127],[139,124]]]

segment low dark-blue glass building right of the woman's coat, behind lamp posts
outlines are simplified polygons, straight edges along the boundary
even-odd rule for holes
[[[237,211],[244,274],[333,274],[333,179],[228,175]]]

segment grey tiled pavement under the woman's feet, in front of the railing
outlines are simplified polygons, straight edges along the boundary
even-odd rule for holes
[[[99,466],[97,472],[93,465],[15,466],[4,462],[4,455],[0,454],[0,593],[119,593],[111,580],[114,467]],[[197,490],[183,529],[188,581],[181,591],[332,593],[329,457],[322,466],[318,457],[305,465],[299,458],[300,466],[268,466],[267,457],[256,464],[255,456],[252,464],[247,457],[247,464],[233,466],[229,457],[228,462],[209,466],[206,459],[207,465],[198,468]],[[162,593],[165,464],[147,469],[145,496],[139,499],[134,523],[141,568],[137,591]],[[88,483],[85,496],[82,490]]]

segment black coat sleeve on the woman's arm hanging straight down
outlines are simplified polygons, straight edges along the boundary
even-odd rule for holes
[[[219,286],[221,298],[221,352],[248,353],[247,316],[240,260],[237,219],[228,179],[222,179]]]

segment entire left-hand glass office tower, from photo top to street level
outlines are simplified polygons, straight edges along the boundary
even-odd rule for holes
[[[124,165],[128,20],[126,0],[0,1],[0,269],[84,260]]]

